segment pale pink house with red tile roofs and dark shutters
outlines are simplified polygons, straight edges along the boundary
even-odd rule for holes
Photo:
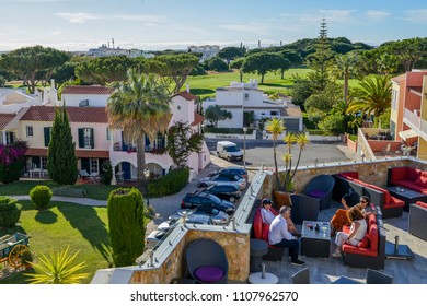
[[[54,82],[53,82],[54,84]],[[113,89],[106,86],[67,86],[62,91],[62,101],[56,98],[54,86],[35,96],[31,103],[22,99],[18,103],[0,105],[1,143],[11,143],[18,139],[26,141],[25,172],[33,168],[46,169],[47,148],[50,139],[51,123],[55,117],[55,106],[66,103],[71,132],[76,142],[78,168],[89,174],[100,174],[102,163],[109,160],[120,178],[137,177],[137,154],[132,143],[123,140],[122,130],[109,130],[106,116],[106,105]],[[174,122],[188,122],[193,132],[200,131],[204,117],[196,114],[196,96],[181,92],[171,97],[172,119]],[[9,107],[18,111],[4,111]],[[146,164],[151,176],[165,175],[173,165],[172,158],[165,153],[165,137],[159,134],[150,143],[146,139]],[[191,178],[206,167],[210,162],[209,150],[204,142],[200,153],[192,153],[187,158]]]

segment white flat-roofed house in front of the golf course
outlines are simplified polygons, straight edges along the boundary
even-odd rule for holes
[[[216,98],[203,103],[204,109],[218,105],[232,114],[232,119],[218,122],[218,128],[243,128],[244,113],[253,113],[255,120],[280,117],[285,119],[288,131],[302,131],[302,113],[299,106],[291,103],[290,97],[282,96],[273,101],[261,90],[257,80],[249,83],[231,82],[230,86],[219,87]]]

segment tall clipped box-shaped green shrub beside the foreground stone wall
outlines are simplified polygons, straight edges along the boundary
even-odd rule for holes
[[[142,195],[136,188],[115,189],[109,193],[107,201],[109,243],[116,267],[135,264],[136,259],[143,252],[146,235],[143,209]]]

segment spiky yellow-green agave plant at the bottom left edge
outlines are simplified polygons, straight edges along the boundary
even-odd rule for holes
[[[39,263],[31,262],[34,268],[34,274],[24,274],[30,276],[32,284],[79,284],[89,276],[89,273],[80,273],[80,270],[86,267],[85,262],[74,264],[73,261],[78,256],[68,255],[69,246],[57,254],[49,256],[42,255]]]

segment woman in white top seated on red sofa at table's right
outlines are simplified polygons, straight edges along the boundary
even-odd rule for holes
[[[335,237],[336,250],[332,254],[333,257],[342,256],[342,246],[344,243],[357,246],[365,237],[368,231],[368,224],[365,220],[363,213],[354,207],[347,211],[348,220],[351,222],[350,234],[338,232]]]

